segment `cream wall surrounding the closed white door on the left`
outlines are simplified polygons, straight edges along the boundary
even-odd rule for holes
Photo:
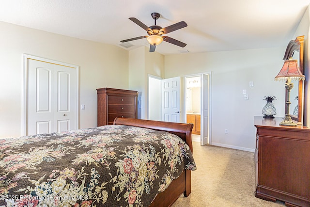
[[[79,127],[97,125],[96,88],[128,89],[128,51],[0,22],[0,138],[21,136],[23,53],[79,66]]]

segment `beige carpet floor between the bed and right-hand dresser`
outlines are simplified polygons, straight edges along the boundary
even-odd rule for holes
[[[283,207],[255,197],[254,153],[193,142],[191,194],[172,207]]]

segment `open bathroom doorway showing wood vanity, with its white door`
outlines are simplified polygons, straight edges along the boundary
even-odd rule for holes
[[[194,124],[193,141],[210,143],[210,74],[185,77],[185,118]]]

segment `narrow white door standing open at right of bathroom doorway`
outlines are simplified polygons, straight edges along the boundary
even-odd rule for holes
[[[201,75],[201,145],[209,142],[209,75]]]

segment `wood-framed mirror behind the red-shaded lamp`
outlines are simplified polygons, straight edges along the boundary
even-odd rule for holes
[[[299,69],[303,74],[304,37],[305,36],[298,36],[295,40],[291,40],[285,50],[285,55],[283,58],[284,61],[289,60],[291,57],[297,60]],[[300,124],[303,124],[303,81],[292,80],[292,82],[294,82],[294,87],[290,92],[291,104],[289,114],[293,120],[297,121]]]

